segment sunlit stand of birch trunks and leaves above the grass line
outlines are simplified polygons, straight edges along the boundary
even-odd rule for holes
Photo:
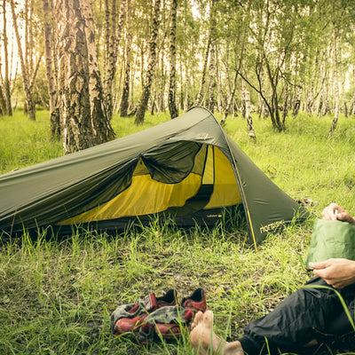
[[[332,113],[330,137],[355,110],[350,0],[3,0],[1,19],[0,113],[48,108],[64,154],[113,139],[114,113],[202,105],[256,138],[251,112]]]

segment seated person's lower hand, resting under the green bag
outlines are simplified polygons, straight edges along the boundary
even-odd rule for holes
[[[355,261],[348,259],[328,259],[310,263],[313,273],[334,288],[344,288],[355,282]]]

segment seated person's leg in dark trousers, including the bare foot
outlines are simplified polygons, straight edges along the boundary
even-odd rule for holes
[[[266,349],[267,339],[272,353],[276,349],[301,350],[314,340],[316,329],[326,331],[335,315],[343,312],[343,306],[334,289],[317,288],[326,286],[323,280],[314,279],[309,286],[312,288],[300,288],[274,311],[251,322],[245,327],[240,342],[226,343],[213,333],[213,313],[196,315],[190,336],[193,349],[199,355],[207,354],[209,349],[216,354],[260,354]],[[349,295],[354,295],[354,292],[343,292],[345,299]]]

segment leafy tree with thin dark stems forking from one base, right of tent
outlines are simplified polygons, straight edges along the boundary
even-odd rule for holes
[[[286,62],[291,56],[302,51],[304,28],[300,26],[298,13],[302,10],[296,1],[267,1],[254,3],[252,13],[255,21],[249,27],[251,43],[248,45],[248,60],[245,64],[253,67],[250,75],[244,66],[240,75],[264,101],[275,130],[284,130],[280,116],[280,83],[288,75]],[[284,16],[288,13],[288,16]],[[270,92],[265,91],[263,75]]]

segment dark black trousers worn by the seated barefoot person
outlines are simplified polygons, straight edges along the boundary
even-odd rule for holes
[[[245,327],[240,341],[248,355],[259,355],[268,349],[272,354],[279,350],[301,351],[319,333],[340,335],[353,330],[334,288],[329,288],[320,278],[306,285],[272,312]],[[317,285],[328,288],[317,288]],[[355,284],[337,291],[354,319]]]

